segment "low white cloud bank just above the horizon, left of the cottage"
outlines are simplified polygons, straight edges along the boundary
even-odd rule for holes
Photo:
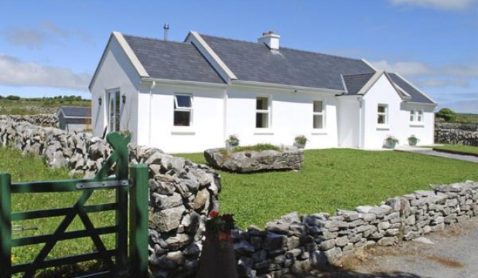
[[[20,61],[0,53],[0,84],[87,90],[91,75]]]

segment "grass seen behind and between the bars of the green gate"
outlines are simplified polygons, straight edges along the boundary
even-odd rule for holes
[[[63,180],[68,179],[67,169],[49,169],[41,158],[32,156],[22,157],[19,150],[11,148],[0,148],[0,172],[10,173],[12,182],[29,182],[39,180]],[[113,202],[114,197],[109,190],[100,190],[93,193],[87,204],[97,204],[103,202]],[[60,207],[72,207],[81,192],[61,192],[61,193],[22,193],[13,194],[11,199],[12,211],[41,210]],[[114,225],[114,212],[97,212],[90,214],[91,221],[95,227],[105,227]],[[38,230],[15,231],[14,238],[34,235],[44,235],[54,232],[63,217],[39,218],[36,220],[25,220],[12,223],[21,225],[24,228],[38,227]],[[76,217],[68,227],[67,231],[83,230],[84,226],[81,220]],[[114,247],[114,236],[102,236],[103,242],[108,249]],[[27,245],[24,247],[14,247],[12,249],[12,262],[21,264],[31,262],[44,244]],[[52,249],[49,257],[62,257],[66,254],[83,254],[93,251],[94,246],[90,238],[81,238],[76,240],[60,241]],[[44,273],[51,273],[51,269],[46,269]],[[41,274],[41,273],[40,273]],[[48,275],[47,275],[48,276]]]

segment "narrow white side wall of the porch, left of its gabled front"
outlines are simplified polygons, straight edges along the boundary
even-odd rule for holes
[[[338,113],[338,141],[340,147],[359,148],[360,96],[340,97]]]

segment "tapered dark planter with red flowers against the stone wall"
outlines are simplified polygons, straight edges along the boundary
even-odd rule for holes
[[[233,215],[213,210],[205,221],[205,241],[196,278],[238,277],[233,238]]]

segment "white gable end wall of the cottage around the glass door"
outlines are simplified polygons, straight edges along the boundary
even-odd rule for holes
[[[116,38],[111,38],[108,44],[103,63],[99,66],[95,82],[91,91],[91,128],[96,136],[103,135],[103,130],[108,125],[106,109],[108,108],[108,91],[119,89],[120,95],[126,95],[126,103],[121,105],[121,130],[130,130],[133,138],[131,143],[137,142],[137,111],[138,111],[138,88],[135,84],[140,83],[140,78],[131,62],[126,57]],[[98,98],[102,103],[98,105]]]

